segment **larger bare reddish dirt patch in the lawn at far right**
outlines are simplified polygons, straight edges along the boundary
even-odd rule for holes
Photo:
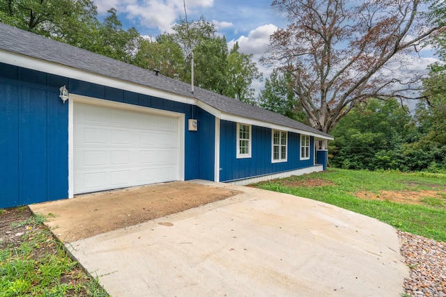
[[[355,193],[357,198],[367,200],[382,200],[405,204],[424,204],[425,198],[443,199],[443,196],[438,191],[380,191],[379,194],[371,192]]]

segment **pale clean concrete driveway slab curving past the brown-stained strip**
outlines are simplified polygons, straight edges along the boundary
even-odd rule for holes
[[[400,296],[394,228],[229,184],[231,198],[66,243],[112,296]],[[94,223],[94,222],[92,222]]]

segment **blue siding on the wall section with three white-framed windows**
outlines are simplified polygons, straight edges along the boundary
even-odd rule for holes
[[[288,132],[287,161],[272,163],[272,131],[252,126],[251,157],[237,159],[237,124],[220,122],[220,182],[233,182],[314,166],[314,137],[310,138],[310,157],[300,160],[300,134]]]

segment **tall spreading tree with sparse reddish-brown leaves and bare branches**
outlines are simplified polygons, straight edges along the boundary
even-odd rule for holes
[[[422,22],[422,2],[275,0],[289,25],[271,36],[263,62],[293,76],[310,125],[329,133],[360,102],[410,97],[420,78],[386,77],[383,70],[440,29]]]

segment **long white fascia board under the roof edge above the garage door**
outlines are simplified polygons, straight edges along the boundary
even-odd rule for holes
[[[197,99],[195,99],[194,97],[186,97],[170,93],[164,90],[151,88],[148,86],[141,86],[137,83],[131,83],[129,81],[123,81],[120,79],[114,79],[112,77],[106,77],[104,75],[95,74],[85,70],[79,70],[73,67],[61,65],[59,63],[44,61],[30,56],[24,56],[22,54],[15,54],[10,51],[5,51],[3,49],[0,49],[0,62],[28,68],[31,70],[37,70],[40,72],[46,72],[49,74],[55,74],[61,77],[68,77],[70,79],[79,79],[79,81],[97,83],[98,85],[101,86],[109,86],[112,88],[128,90],[130,92],[139,93],[143,95],[168,99],[175,102],[197,105]]]

